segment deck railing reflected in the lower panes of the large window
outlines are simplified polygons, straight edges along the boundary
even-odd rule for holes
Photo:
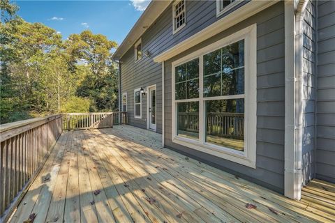
[[[244,138],[244,114],[208,113],[205,125],[207,134],[234,139]],[[188,132],[199,131],[199,114],[193,112],[178,113],[178,128]]]

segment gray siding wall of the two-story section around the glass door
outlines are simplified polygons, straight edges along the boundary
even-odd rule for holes
[[[248,1],[243,2],[247,3]],[[239,6],[235,6],[225,15]],[[157,91],[157,132],[162,132],[162,67],[153,58],[166,49],[193,36],[221,17],[216,17],[216,1],[186,1],[186,26],[172,35],[172,4],[158,17],[156,22],[142,35],[142,52],[149,52],[137,63],[134,62],[134,47],[121,58],[121,95],[128,94],[128,123],[147,128],[147,96],[142,100],[142,118],[134,118],[134,89],[156,84]]]

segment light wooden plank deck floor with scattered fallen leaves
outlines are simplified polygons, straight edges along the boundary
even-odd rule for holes
[[[255,208],[246,208],[251,203]],[[161,147],[129,125],[61,134],[11,222],[334,222],[335,185],[301,201]]]

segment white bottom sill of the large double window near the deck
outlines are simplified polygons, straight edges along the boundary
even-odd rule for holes
[[[216,157],[221,157],[225,160],[237,162],[238,164],[244,165],[246,167],[256,168],[255,161],[248,159],[246,152],[234,151],[230,148],[223,148],[220,146],[214,146],[209,144],[200,144],[199,141],[193,139],[186,139],[184,137],[175,136],[172,139],[174,144],[179,144],[181,146],[186,146],[188,148],[201,151],[203,153],[208,153]]]

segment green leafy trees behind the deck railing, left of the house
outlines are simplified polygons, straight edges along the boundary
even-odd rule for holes
[[[63,40],[54,29],[17,17],[9,1],[0,6],[0,123],[117,109],[114,41],[91,31]]]

